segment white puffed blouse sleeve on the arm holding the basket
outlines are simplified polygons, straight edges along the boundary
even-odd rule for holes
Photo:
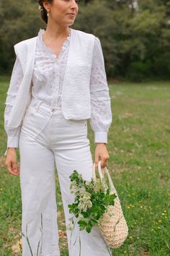
[[[91,67],[91,118],[89,124],[94,131],[94,142],[107,143],[107,133],[112,124],[111,98],[104,67],[104,56],[99,38],[95,37]]]

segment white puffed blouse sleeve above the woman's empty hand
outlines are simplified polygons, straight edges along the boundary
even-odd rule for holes
[[[19,134],[21,126],[17,128],[9,128],[7,127],[7,124],[9,120],[9,114],[11,113],[12,107],[14,106],[14,102],[16,100],[19,85],[21,85],[22,82],[22,78],[22,67],[19,59],[16,57],[14,67],[12,69],[11,80],[9,82],[9,89],[6,93],[6,101],[4,103],[6,105],[4,108],[4,129],[7,135],[7,148],[19,148]],[[4,155],[6,155],[6,152]]]

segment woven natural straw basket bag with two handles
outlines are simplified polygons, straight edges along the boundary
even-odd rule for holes
[[[109,181],[110,194],[117,195],[117,191],[113,185],[111,176],[109,175],[109,170],[107,167],[101,168],[101,161],[98,163],[99,177],[104,184],[104,175],[107,175]],[[96,180],[95,174],[95,163],[93,165],[93,180]],[[108,186],[107,186],[108,187]],[[117,195],[115,198],[115,205],[108,205],[107,210],[101,218],[99,218],[98,223],[99,231],[102,234],[107,246],[111,249],[116,249],[120,247],[128,236],[128,225],[125,221],[125,217],[122,213],[122,208],[120,205],[120,199]]]

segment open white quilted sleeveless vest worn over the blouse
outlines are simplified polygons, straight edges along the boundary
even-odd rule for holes
[[[95,36],[71,28],[68,61],[63,79],[62,111],[66,119],[89,119],[91,117],[90,77]],[[35,63],[37,36],[14,45],[14,51],[24,74],[17,98],[9,115],[8,127],[22,124],[31,101],[31,80]]]

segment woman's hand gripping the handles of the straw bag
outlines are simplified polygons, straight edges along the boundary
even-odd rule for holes
[[[95,167],[98,166],[98,163],[100,160],[99,158],[101,158],[101,168],[104,168],[107,165],[107,161],[109,159],[109,153],[107,151],[107,147],[105,143],[103,142],[97,143],[97,146],[96,146],[95,159],[94,159]]]

